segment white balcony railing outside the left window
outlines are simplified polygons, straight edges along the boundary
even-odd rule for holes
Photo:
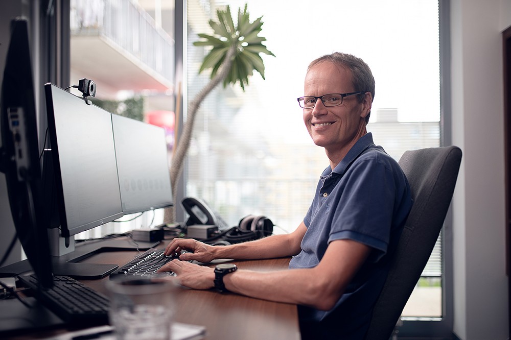
[[[72,36],[103,36],[169,81],[174,80],[174,40],[130,0],[72,0]]]

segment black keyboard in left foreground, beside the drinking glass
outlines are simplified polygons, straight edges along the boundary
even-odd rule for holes
[[[71,325],[108,323],[110,302],[106,296],[67,276],[54,276],[51,289],[40,289],[35,275],[18,276],[19,281],[37,291],[36,298]]]

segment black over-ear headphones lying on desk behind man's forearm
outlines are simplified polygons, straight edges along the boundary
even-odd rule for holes
[[[271,235],[273,233],[273,222],[266,216],[248,215],[240,220],[237,227],[230,228],[220,235],[210,239],[213,245],[228,245]],[[207,240],[207,241],[210,241]]]

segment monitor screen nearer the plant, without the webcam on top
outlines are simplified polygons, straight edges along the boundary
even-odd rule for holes
[[[112,125],[123,212],[171,206],[165,130],[117,114]]]

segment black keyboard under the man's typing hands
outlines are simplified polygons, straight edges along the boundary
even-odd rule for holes
[[[151,248],[146,252],[138,255],[136,258],[121,266],[118,270],[110,274],[110,279],[118,277],[136,277],[136,276],[152,276],[156,271],[167,262],[179,258],[177,254],[174,256],[165,256],[164,249]],[[172,275],[173,273],[171,273]]]

